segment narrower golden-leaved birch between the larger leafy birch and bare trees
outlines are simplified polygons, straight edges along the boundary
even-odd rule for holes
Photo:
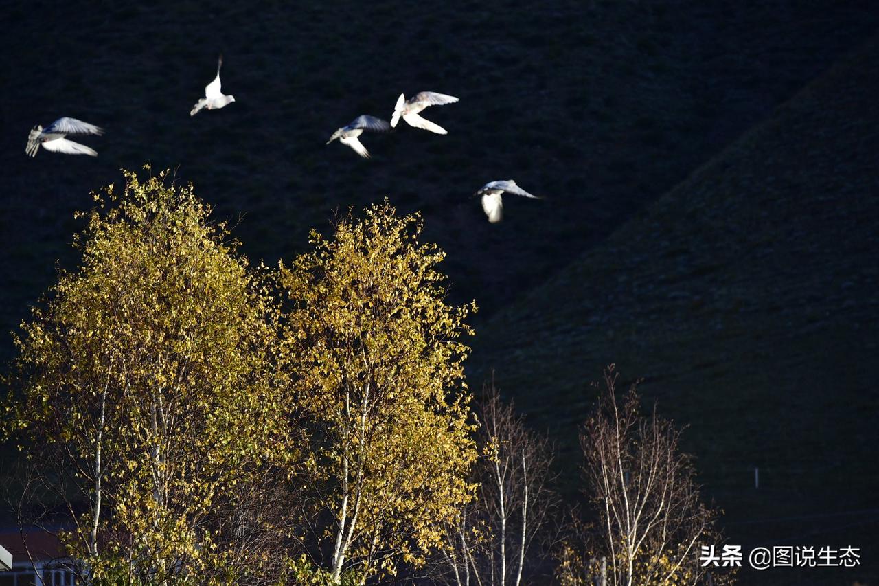
[[[349,214],[280,282],[292,309],[294,404],[312,457],[316,564],[331,582],[418,567],[472,497],[476,459],[461,336],[475,307],[445,302],[443,259],[421,244],[418,216],[387,202]]]

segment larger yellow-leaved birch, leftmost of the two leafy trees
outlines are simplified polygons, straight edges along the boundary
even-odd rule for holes
[[[29,486],[65,505],[86,582],[259,583],[290,444],[277,304],[192,187],[125,175],[17,341]]]

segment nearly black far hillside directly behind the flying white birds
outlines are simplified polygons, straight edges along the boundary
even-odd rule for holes
[[[246,214],[243,251],[301,250],[333,210],[389,195],[420,209],[448,254],[457,300],[479,319],[541,282],[791,95],[879,19],[866,1],[700,3],[12,4],[0,37],[0,329],[69,265],[74,209],[120,167],[177,166],[216,215]],[[95,9],[98,10],[95,10]],[[189,110],[225,55],[236,103]],[[367,136],[360,160],[331,132],[389,117],[399,92],[454,94]],[[23,152],[69,115],[106,128],[97,159]],[[546,201],[485,222],[469,197],[517,179]],[[4,334],[0,344],[9,352]]]

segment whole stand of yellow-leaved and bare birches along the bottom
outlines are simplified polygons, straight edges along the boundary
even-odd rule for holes
[[[79,581],[541,579],[551,446],[497,392],[471,411],[476,307],[447,303],[418,215],[349,213],[270,271],[167,172],[94,197],[4,381],[19,510],[63,526]],[[581,436],[596,523],[556,577],[691,583],[716,513],[679,431],[615,379]]]

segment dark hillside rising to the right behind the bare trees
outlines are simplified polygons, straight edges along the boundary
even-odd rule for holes
[[[861,546],[861,575],[875,580],[877,95],[874,39],[490,319],[471,384],[496,369],[531,421],[553,429],[573,483],[587,383],[615,362],[689,426],[686,449],[731,543]],[[873,512],[840,514],[861,509]],[[752,523],[815,514],[832,515]],[[851,583],[831,575],[778,570],[759,583]]]

